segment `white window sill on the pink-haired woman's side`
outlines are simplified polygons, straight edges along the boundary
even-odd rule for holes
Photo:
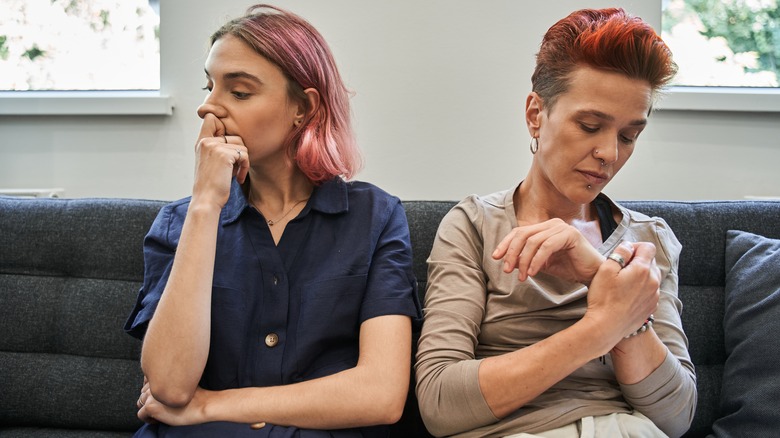
[[[173,114],[159,91],[3,91],[3,116],[110,116]]]

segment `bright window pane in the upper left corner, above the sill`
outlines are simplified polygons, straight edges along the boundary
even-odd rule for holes
[[[0,90],[158,90],[159,0],[3,0]]]

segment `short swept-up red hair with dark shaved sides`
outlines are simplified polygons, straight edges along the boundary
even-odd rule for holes
[[[580,66],[647,81],[653,100],[677,73],[671,50],[655,30],[620,8],[575,11],[547,30],[531,84],[548,110]]]

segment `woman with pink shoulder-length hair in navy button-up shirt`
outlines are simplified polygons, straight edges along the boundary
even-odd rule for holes
[[[360,157],[333,56],[256,5],[205,71],[192,196],[149,231],[125,326],[143,339],[136,435],[387,436],[419,318],[411,244],[398,198],[346,181]]]

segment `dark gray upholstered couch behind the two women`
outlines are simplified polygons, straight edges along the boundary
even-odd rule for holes
[[[422,294],[434,233],[454,203],[404,204]],[[699,388],[686,436],[706,436],[720,415],[727,359],[725,234],[740,229],[780,238],[780,203],[623,204],[665,218],[683,244],[680,298]],[[0,435],[129,436],[139,426],[140,344],[122,326],[143,275],[143,237],[163,205],[0,197]],[[393,431],[428,436],[413,392]]]

